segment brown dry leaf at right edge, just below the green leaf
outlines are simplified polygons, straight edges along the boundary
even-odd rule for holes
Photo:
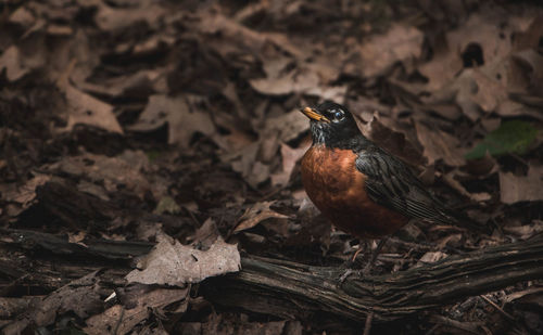
[[[543,167],[531,166],[528,176],[500,172],[500,194],[502,203],[538,202],[543,199]]]

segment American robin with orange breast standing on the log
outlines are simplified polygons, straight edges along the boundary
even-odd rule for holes
[[[469,221],[427,191],[402,160],[365,138],[344,106],[326,102],[301,112],[311,119],[313,138],[302,159],[302,182],[338,228],[361,239],[381,239],[412,218]]]

